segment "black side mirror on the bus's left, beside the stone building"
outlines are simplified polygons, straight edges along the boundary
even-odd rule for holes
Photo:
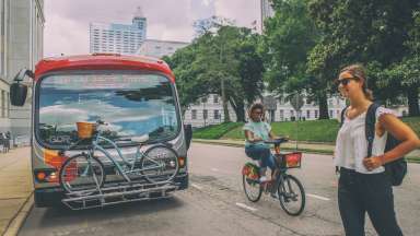
[[[21,83],[23,79],[25,79],[25,75],[34,79],[34,73],[24,68],[14,76],[13,83],[10,86],[10,103],[13,106],[23,106],[25,104],[27,85]]]

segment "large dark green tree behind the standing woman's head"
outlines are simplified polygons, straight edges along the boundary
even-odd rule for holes
[[[418,8],[418,0],[311,0],[310,13],[322,34],[310,56],[310,72],[331,81],[343,66],[362,62],[371,71],[375,97],[416,94],[396,70],[411,54],[407,32]]]

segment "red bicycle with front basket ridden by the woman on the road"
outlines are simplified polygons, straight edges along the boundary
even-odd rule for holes
[[[288,169],[301,167],[302,153],[280,153],[280,144],[284,142],[288,142],[288,139],[266,141],[266,143],[275,144],[273,156],[277,168],[271,175],[271,180],[260,182],[259,165],[247,162],[242,168],[243,186],[249,201],[257,202],[262,191],[271,193],[272,197],[279,199],[285,213],[296,216],[305,208],[305,190],[296,177],[288,174]]]

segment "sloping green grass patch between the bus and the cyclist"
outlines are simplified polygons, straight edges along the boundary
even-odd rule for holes
[[[220,139],[224,133],[237,127],[243,127],[243,122],[224,122],[221,125],[208,126],[194,130],[195,139]]]

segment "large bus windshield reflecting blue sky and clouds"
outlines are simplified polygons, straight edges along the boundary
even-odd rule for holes
[[[37,86],[37,139],[47,145],[78,142],[78,121],[103,120],[110,140],[148,135],[168,140],[179,132],[174,87],[161,74],[101,71],[54,74]]]

